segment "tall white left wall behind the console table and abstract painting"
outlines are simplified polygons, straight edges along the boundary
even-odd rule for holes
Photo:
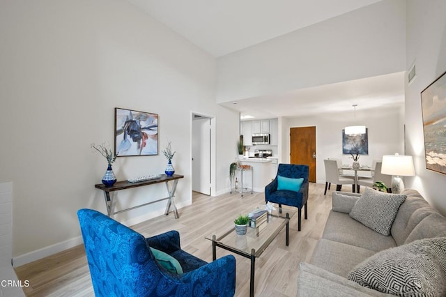
[[[216,192],[226,187],[238,113],[215,104],[215,59],[128,1],[1,1],[0,40],[0,180],[14,185],[17,265],[81,243],[79,208],[106,212],[94,184],[107,163],[90,144],[113,146],[114,107],[159,114],[160,151],[170,140],[185,175],[178,206],[192,202],[191,111],[215,116],[213,180]],[[166,165],[160,153],[118,158],[113,169],[123,180]],[[163,184],[121,191],[117,208],[166,195]],[[164,208],[116,219],[134,224]]]

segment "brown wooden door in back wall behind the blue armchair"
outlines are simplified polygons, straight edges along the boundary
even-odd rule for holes
[[[316,127],[290,129],[291,164],[309,166],[308,180],[316,183]]]

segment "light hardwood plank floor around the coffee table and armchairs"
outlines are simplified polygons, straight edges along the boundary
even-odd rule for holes
[[[289,246],[285,245],[285,230],[256,259],[255,296],[296,296],[298,265],[309,261],[332,206],[332,190],[323,195],[323,184],[310,183],[308,220],[302,211],[302,231],[298,232],[297,214],[290,221]],[[351,186],[344,185],[344,191]],[[212,244],[204,236],[219,224],[231,224],[236,215],[264,204],[265,195],[226,194],[209,197],[194,193],[193,203],[179,210],[180,218],[162,215],[132,226],[145,237],[169,230],[180,232],[181,248],[205,260],[212,261]],[[295,208],[294,208],[295,209]],[[217,257],[229,254],[217,248]],[[236,256],[236,296],[249,296],[249,259]],[[84,246],[54,254],[15,268],[20,280],[29,280],[26,296],[94,296]]]

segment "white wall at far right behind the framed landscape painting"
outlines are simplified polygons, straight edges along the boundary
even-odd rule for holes
[[[413,155],[414,178],[407,188],[419,190],[446,215],[446,176],[426,169],[422,126],[421,91],[446,71],[446,2],[407,1],[406,69],[416,64],[417,78],[406,82],[406,151]]]

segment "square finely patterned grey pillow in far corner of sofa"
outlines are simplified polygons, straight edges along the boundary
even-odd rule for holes
[[[406,195],[387,194],[365,188],[364,194],[353,206],[350,216],[379,234],[389,236],[399,206],[404,200]]]

